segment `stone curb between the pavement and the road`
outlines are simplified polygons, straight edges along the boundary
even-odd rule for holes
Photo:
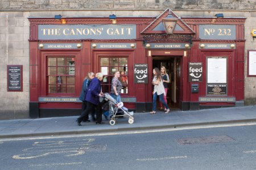
[[[53,131],[46,133],[27,133],[27,134],[8,134],[0,135],[3,138],[24,138],[24,137],[46,137],[46,136],[59,136],[59,135],[77,135],[77,134],[94,134],[94,133],[111,133],[118,131],[134,131],[134,130],[155,130],[155,129],[170,129],[182,128],[188,126],[205,126],[205,125],[220,125],[220,124],[236,124],[245,122],[256,122],[256,118],[245,120],[230,120],[230,121],[217,121],[217,122],[198,122],[194,124],[172,124],[172,125],[156,125],[156,126],[139,126],[134,128],[118,128],[118,129],[100,129],[100,130],[73,130],[73,131]]]

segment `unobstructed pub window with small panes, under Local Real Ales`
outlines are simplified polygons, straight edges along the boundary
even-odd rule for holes
[[[75,57],[48,57],[48,93],[75,93]]]

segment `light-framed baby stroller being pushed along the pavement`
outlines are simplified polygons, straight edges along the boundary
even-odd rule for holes
[[[133,112],[128,112],[128,109],[123,107],[123,103],[118,103],[117,100],[115,100],[110,94],[105,94],[105,100],[109,101],[109,113],[111,120],[109,121],[110,125],[115,124],[116,118],[121,117],[129,117],[128,122],[129,124],[133,124],[134,118],[133,118]]]

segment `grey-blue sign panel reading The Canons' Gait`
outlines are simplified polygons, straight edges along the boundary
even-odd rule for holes
[[[38,39],[136,39],[136,25],[38,25]]]

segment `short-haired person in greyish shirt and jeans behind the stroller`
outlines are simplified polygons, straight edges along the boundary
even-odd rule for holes
[[[114,77],[112,79],[111,84],[111,96],[117,100],[118,103],[121,102],[121,90],[122,90],[122,83],[119,81],[120,72],[115,71]]]

